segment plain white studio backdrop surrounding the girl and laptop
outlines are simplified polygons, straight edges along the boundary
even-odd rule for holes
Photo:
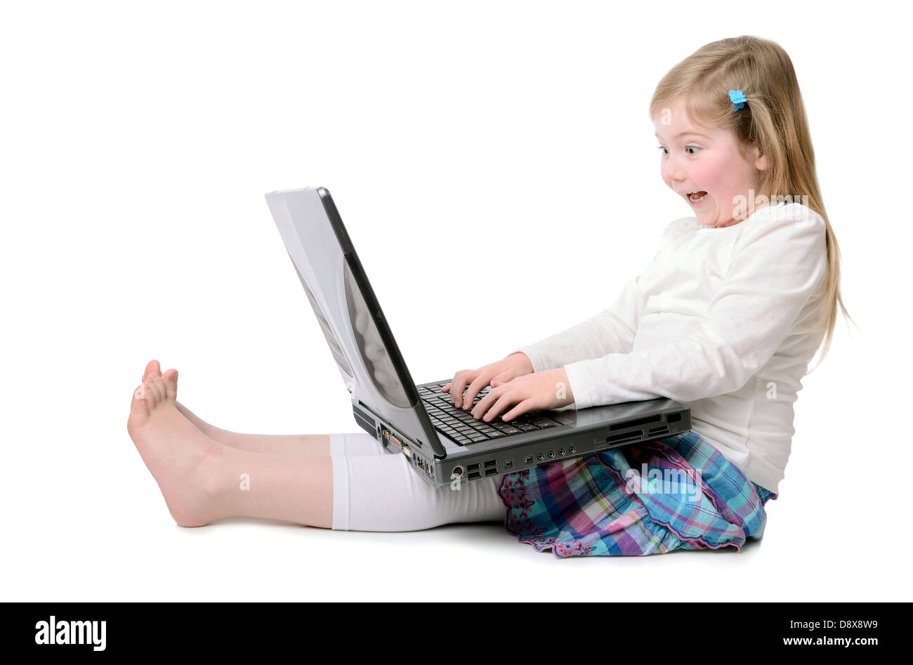
[[[909,599],[892,5],[2,6],[4,599]],[[859,326],[839,318],[803,381],[761,544],[557,560],[498,524],[173,523],[126,430],[152,358],[219,427],[359,431],[266,192],[330,189],[415,381],[446,378],[593,315],[645,267],[688,214],[650,96],[745,33],[792,57]]]

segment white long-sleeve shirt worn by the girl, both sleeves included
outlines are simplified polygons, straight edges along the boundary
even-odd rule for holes
[[[822,331],[826,269],[824,218],[807,206],[767,206],[722,228],[683,217],[612,306],[515,351],[535,372],[563,366],[578,409],[657,396],[687,404],[694,431],[777,492]]]

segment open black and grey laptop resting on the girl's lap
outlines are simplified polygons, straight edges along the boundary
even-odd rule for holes
[[[666,397],[579,410],[569,405],[509,422],[501,419],[506,410],[488,423],[472,417],[441,391],[450,378],[413,382],[330,192],[306,187],[266,198],[349,391],[355,422],[384,449],[404,454],[435,487],[458,489],[461,482],[690,430],[688,406]]]

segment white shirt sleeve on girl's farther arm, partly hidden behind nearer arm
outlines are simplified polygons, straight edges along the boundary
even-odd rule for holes
[[[510,354],[518,351],[526,354],[533,372],[600,358],[605,354],[626,354],[634,347],[637,322],[643,311],[637,280],[635,277],[628,281],[614,303],[595,316],[540,342],[521,346]]]

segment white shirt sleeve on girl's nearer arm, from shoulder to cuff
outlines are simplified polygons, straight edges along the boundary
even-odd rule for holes
[[[751,223],[725,280],[686,339],[566,364],[576,408],[667,396],[681,402],[738,390],[770,360],[824,285],[824,218],[786,206]]]

